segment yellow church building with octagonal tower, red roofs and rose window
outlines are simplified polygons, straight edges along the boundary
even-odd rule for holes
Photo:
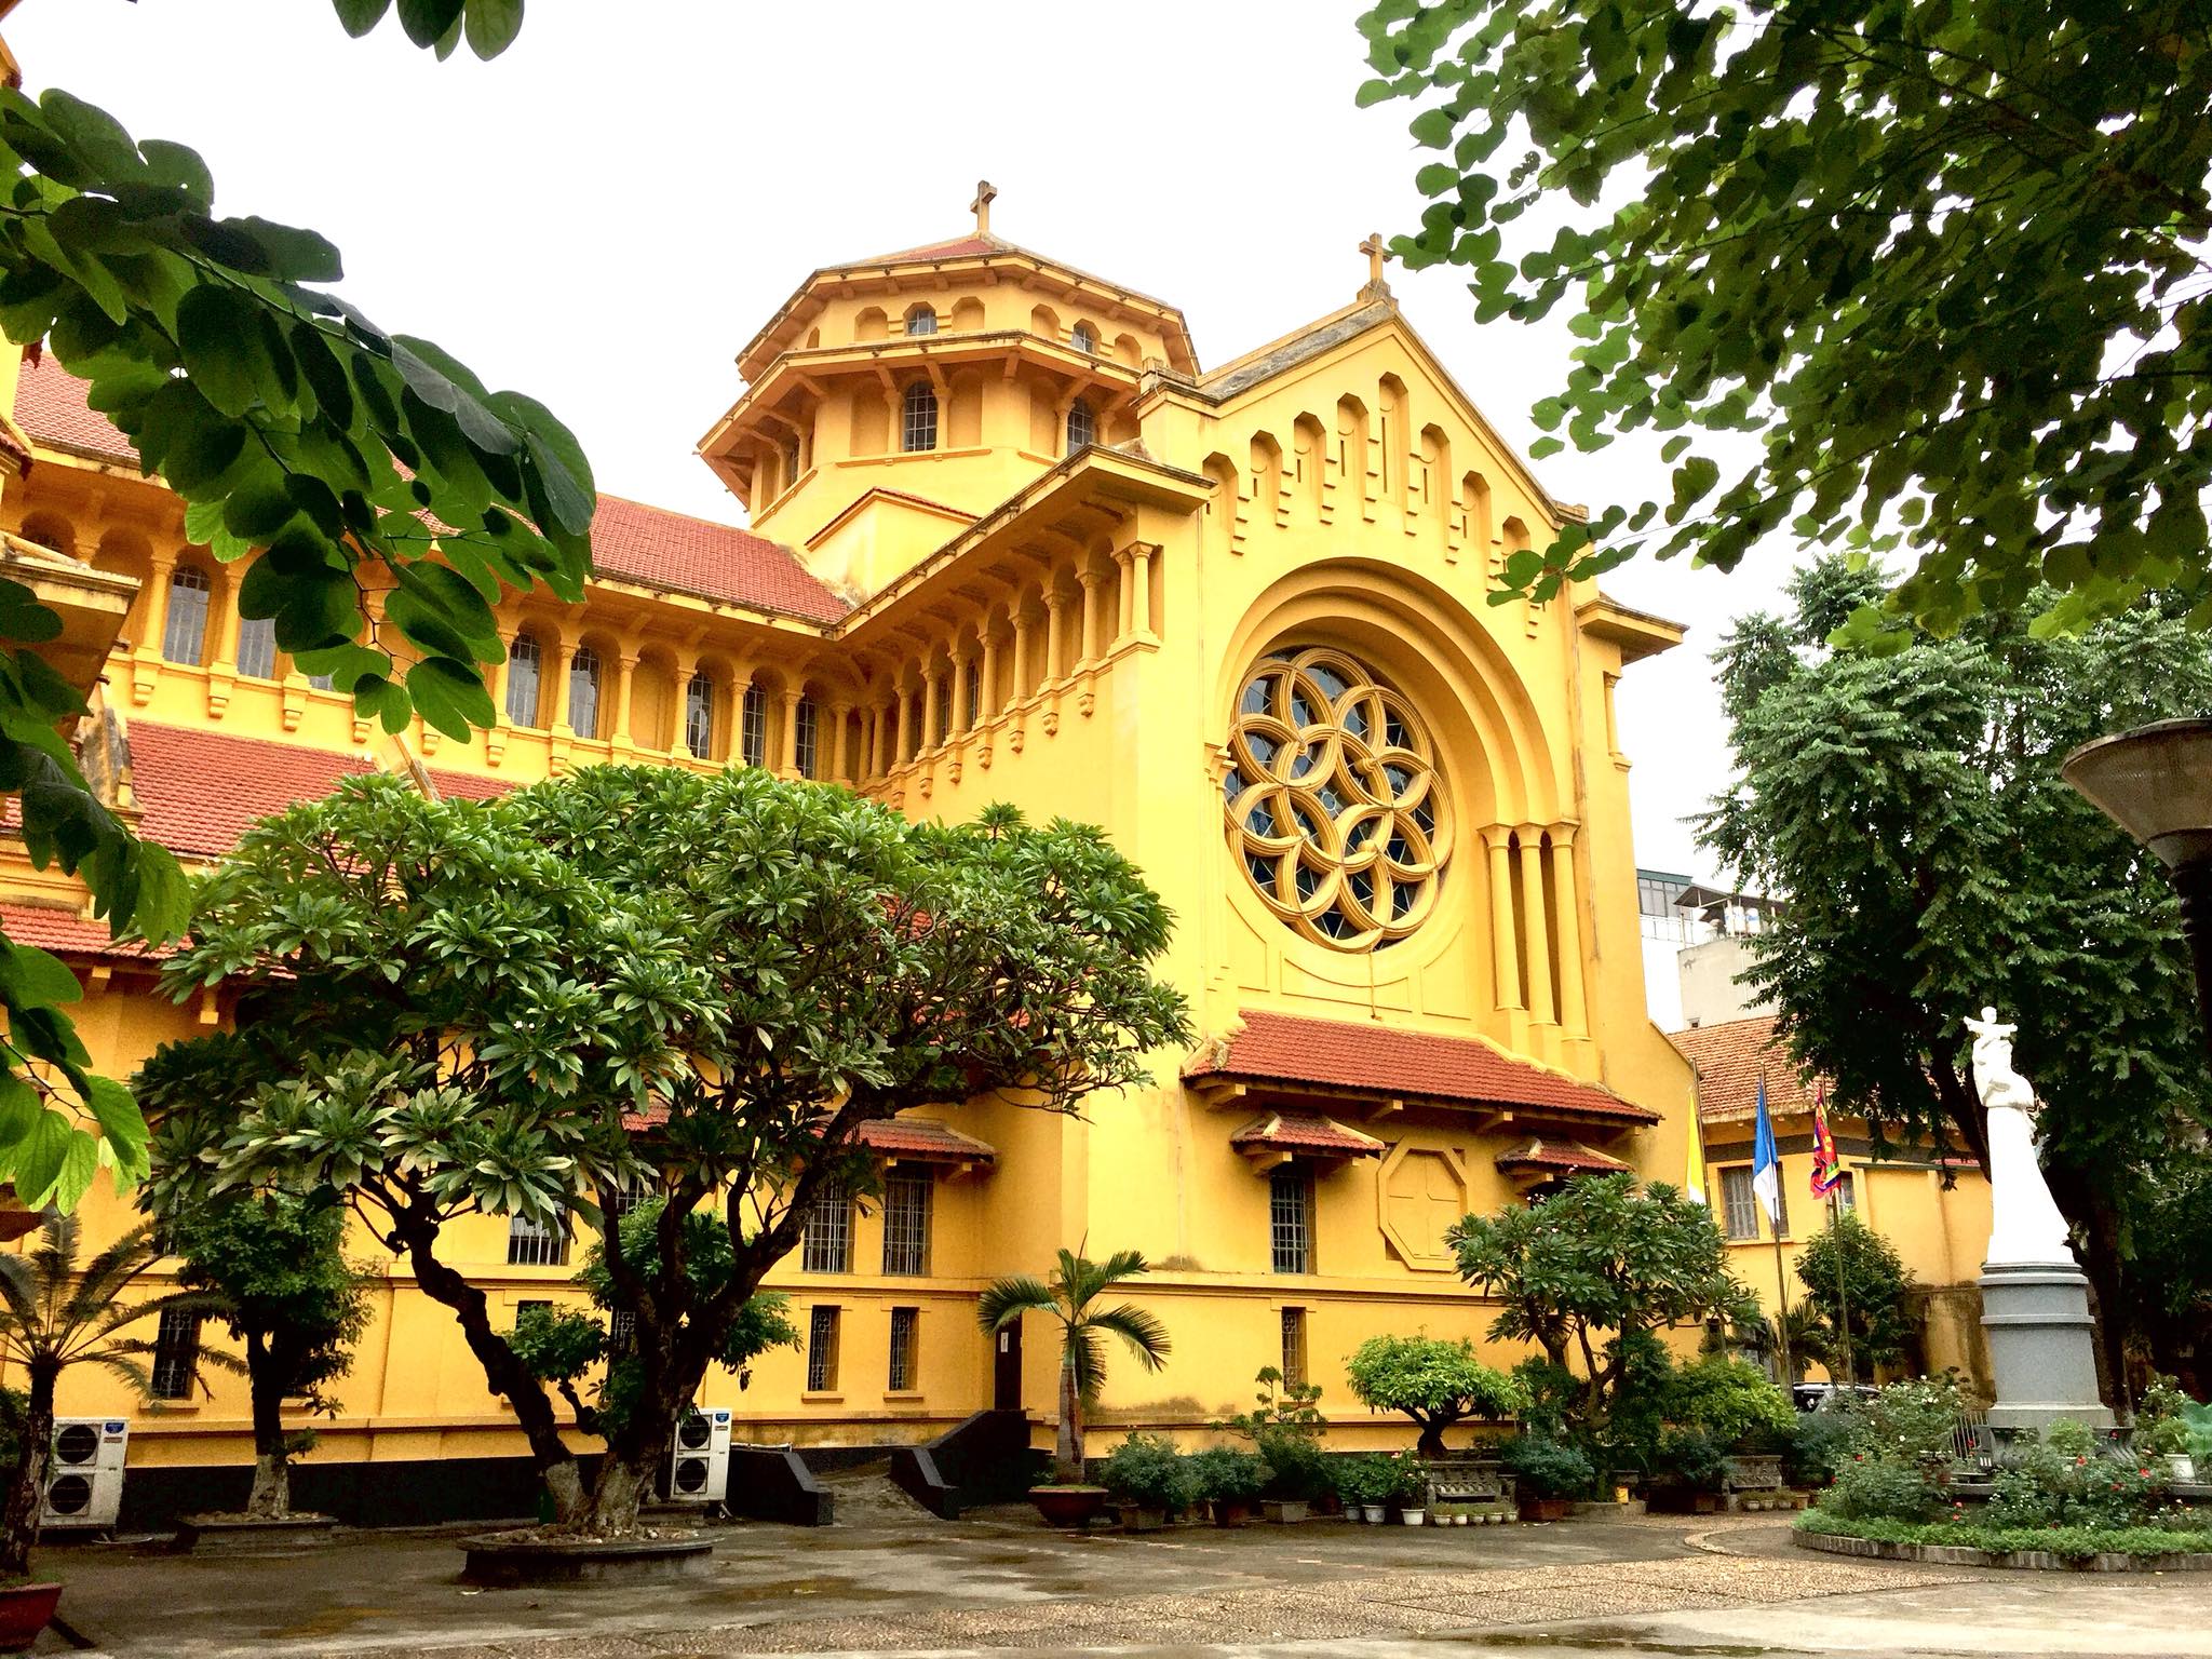
[[[1343,1363],[1378,1332],[1484,1340],[1449,1223],[1584,1170],[1681,1177],[1692,1068],[1644,1011],[1615,730],[1626,670],[1681,635],[1588,584],[1491,604],[1506,557],[1584,509],[1498,438],[1378,254],[1352,303],[1201,367],[1175,305],[1000,239],[989,188],[973,210],[807,274],[737,354],[699,453],[750,529],[604,498],[586,599],[500,611],[500,726],[405,745],[447,794],[644,759],[916,818],[1066,814],[1179,918],[1164,971],[1201,1037],[1152,1086],[1082,1119],[973,1104],[874,1130],[880,1194],[825,1203],[772,1279],[805,1345],[703,1391],[739,1440],[916,1442],[1022,1407],[1042,1444],[1055,1345],[987,1338],[975,1301],[1088,1245],[1157,1263],[1135,1298],[1172,1338],[1161,1374],[1113,1371],[1106,1444],[1199,1433],[1265,1365],[1325,1389],[1338,1444],[1405,1444]],[[0,529],[113,595],[86,759],[142,834],[208,865],[254,816],[405,763],[239,617],[241,568],[190,544],[80,383],[38,358],[0,378],[22,438]],[[157,998],[20,845],[0,869],[9,933],[84,980],[104,1071],[223,1018]],[[95,1241],[133,1221],[104,1186],[84,1214]],[[469,1239],[509,1316],[580,1296],[568,1239],[500,1217]],[[509,1413],[451,1316],[361,1254],[376,1321],[301,1502],[513,1513]],[[126,1522],[243,1491],[250,1462],[243,1383],[184,1383],[219,1332],[159,1340],[155,1409],[64,1380],[64,1413],[131,1420]]]

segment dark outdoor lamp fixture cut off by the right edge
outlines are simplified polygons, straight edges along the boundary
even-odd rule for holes
[[[2154,721],[2084,743],[2059,774],[2166,865],[2197,962],[2212,1053],[2212,719]]]

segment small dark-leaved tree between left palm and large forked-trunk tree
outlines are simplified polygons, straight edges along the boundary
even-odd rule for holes
[[[290,1192],[226,1192],[179,1203],[159,1228],[168,1252],[184,1259],[177,1283],[208,1292],[246,1347],[254,1420],[246,1513],[290,1515],[292,1458],[314,1436],[283,1427],[285,1400],[338,1416],[327,1387],[352,1369],[369,1323],[369,1276],[345,1259],[345,1210]]]

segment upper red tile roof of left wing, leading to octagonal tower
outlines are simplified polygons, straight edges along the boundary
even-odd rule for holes
[[[86,407],[86,385],[53,356],[24,361],[15,420],[51,449],[137,467],[137,451],[115,422]],[[615,582],[664,593],[743,604],[807,622],[836,622],[849,608],[807,575],[787,546],[765,535],[661,507],[599,495],[591,524],[593,564]]]

